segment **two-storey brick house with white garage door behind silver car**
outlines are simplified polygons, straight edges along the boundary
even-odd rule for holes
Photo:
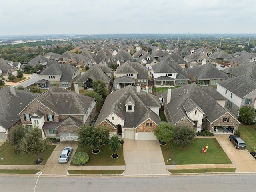
[[[39,126],[43,138],[76,140],[80,126],[89,125],[94,119],[96,103],[94,98],[52,86],[22,108],[18,115],[28,128]]]

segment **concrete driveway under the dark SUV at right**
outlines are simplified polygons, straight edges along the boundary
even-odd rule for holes
[[[230,134],[216,134],[215,138],[236,167],[236,172],[256,172],[256,160],[247,149],[235,149],[228,140],[229,136]]]

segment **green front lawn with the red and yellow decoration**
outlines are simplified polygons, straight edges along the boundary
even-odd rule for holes
[[[202,148],[208,144],[208,152],[201,153]],[[215,138],[195,138],[190,146],[182,148],[172,142],[161,146],[165,164],[220,164],[231,163]]]

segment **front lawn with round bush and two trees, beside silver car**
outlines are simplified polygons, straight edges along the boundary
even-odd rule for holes
[[[124,162],[124,155],[123,155],[123,145],[121,145],[119,151],[117,154],[119,155],[118,158],[113,159],[111,155],[113,152],[109,149],[109,145],[103,145],[99,147],[100,152],[97,154],[92,153],[92,148],[90,147],[84,147],[81,148],[78,146],[76,153],[77,152],[86,152],[90,159],[88,163],[85,165],[125,165]],[[73,162],[71,162],[70,165],[74,165]]]

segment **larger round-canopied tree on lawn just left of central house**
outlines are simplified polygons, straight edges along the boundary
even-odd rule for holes
[[[78,132],[78,141],[81,146],[90,146],[93,152],[97,153],[100,145],[108,144],[109,142],[109,129],[104,127],[82,126]]]

